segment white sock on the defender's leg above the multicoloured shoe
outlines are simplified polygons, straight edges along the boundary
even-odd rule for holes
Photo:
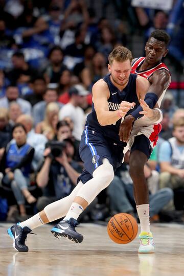
[[[136,210],[140,219],[141,232],[150,232],[149,204],[136,205]]]

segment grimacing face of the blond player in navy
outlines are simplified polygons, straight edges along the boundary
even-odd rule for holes
[[[123,62],[113,60],[111,65],[108,64],[108,71],[111,74],[111,80],[114,82],[114,84],[124,86],[130,77],[130,60]]]

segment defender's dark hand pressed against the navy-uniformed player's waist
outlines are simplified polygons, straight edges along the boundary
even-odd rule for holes
[[[131,116],[131,114],[125,117],[125,119],[120,125],[120,131],[119,131],[120,141],[123,141],[126,143],[128,142],[134,120],[135,118]]]

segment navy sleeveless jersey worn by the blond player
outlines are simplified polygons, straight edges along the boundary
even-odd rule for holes
[[[136,77],[137,77],[136,74],[130,74],[128,84],[122,91],[120,91],[115,85],[113,85],[113,83],[110,80],[110,74],[106,75],[103,78],[103,80],[107,83],[110,91],[110,97],[108,99],[109,111],[118,110],[119,104],[122,101],[127,101],[130,103],[135,102],[134,108],[130,109],[127,112],[127,115],[128,115],[135,108],[137,108],[137,106],[140,105],[136,95]],[[116,142],[117,144],[125,146],[126,143],[121,142],[119,137],[121,120],[122,119],[120,118],[120,120],[118,120],[116,124],[113,124],[113,125],[101,126],[98,122],[97,114],[93,104],[93,109],[91,113],[89,113],[87,116],[86,125],[93,128],[96,131],[103,133],[103,135],[107,137],[107,139],[111,140],[112,142]]]

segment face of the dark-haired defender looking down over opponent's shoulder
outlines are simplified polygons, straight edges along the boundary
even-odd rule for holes
[[[146,51],[146,61],[148,64],[153,64],[162,60],[168,53],[168,49],[166,49],[166,45],[164,41],[160,41],[151,37],[145,47]]]

